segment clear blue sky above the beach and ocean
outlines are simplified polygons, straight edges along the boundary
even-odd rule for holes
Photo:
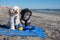
[[[0,0],[0,6],[14,5],[30,9],[60,9],[60,0]]]

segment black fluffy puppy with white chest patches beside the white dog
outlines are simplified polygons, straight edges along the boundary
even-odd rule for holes
[[[29,10],[28,8],[25,8],[21,11],[21,23],[25,26],[28,26],[30,25],[30,16],[32,15],[32,12],[31,10]]]

